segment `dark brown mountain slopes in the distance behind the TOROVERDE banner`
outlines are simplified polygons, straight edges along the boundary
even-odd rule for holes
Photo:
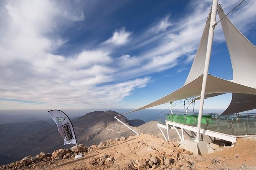
[[[88,146],[101,141],[119,138],[128,129],[119,123],[114,111],[95,111],[72,120],[77,142]],[[120,116],[128,125],[141,125],[142,120],[128,120]],[[0,165],[19,160],[38,152],[52,152],[64,146],[57,126],[44,121],[5,123],[0,125]]]

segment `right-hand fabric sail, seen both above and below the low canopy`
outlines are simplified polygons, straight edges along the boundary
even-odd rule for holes
[[[222,8],[218,14],[225,35],[233,67],[233,82],[256,88],[256,47],[225,17]],[[224,18],[225,17],[225,18]],[[256,108],[256,96],[233,93],[232,101],[222,114],[248,111]]]

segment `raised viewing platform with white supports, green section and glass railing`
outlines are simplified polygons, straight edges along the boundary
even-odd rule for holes
[[[184,112],[173,112],[173,114],[166,114],[165,119],[158,118],[158,128],[160,130],[161,128],[167,130],[167,139],[169,138],[169,129],[175,129],[182,142],[184,140],[183,130],[197,132],[197,121],[197,113],[189,112],[185,114]],[[179,134],[177,128],[181,128],[181,134]],[[162,130],[161,132],[163,133]],[[237,113],[220,115],[204,113],[202,114],[200,133],[214,138],[236,142],[237,137],[256,134],[256,114]],[[163,136],[165,137],[164,133]]]

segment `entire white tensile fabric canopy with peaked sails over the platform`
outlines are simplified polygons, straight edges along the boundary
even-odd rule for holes
[[[218,7],[218,13],[220,19],[223,18],[221,24],[232,62],[233,80],[228,81],[208,75],[205,95],[212,97],[224,93],[233,93],[230,106],[228,106],[228,109],[223,112],[223,114],[232,114],[255,109],[256,47],[232,24],[227,16],[225,17],[220,6]],[[210,14],[207,18],[199,48],[197,49],[195,59],[184,86],[157,101],[130,112],[201,95],[209,27]]]

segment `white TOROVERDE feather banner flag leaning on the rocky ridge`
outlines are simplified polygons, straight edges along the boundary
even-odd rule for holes
[[[48,113],[51,115],[52,119],[57,124],[58,131],[64,139],[64,144],[73,143],[77,145],[77,139],[75,137],[73,125],[68,116],[60,110],[51,110],[48,111]]]

